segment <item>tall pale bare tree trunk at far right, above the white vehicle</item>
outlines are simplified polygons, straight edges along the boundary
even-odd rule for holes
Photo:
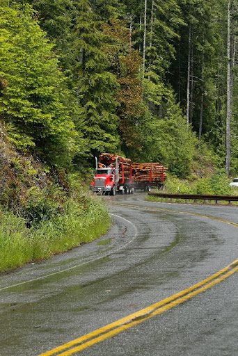
[[[232,115],[231,110],[231,96],[232,96],[232,83],[231,83],[231,65],[232,58],[230,56],[230,0],[228,0],[228,70],[227,70],[227,110],[226,110],[226,156],[225,156],[225,172],[230,174],[230,118]]]

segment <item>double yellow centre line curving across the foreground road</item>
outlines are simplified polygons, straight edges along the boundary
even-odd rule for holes
[[[38,356],[69,356],[74,353],[79,353],[80,351],[93,346],[95,343],[99,343],[100,341],[104,341],[109,337],[113,337],[120,332],[129,329],[135,325],[146,321],[153,316],[159,315],[163,312],[166,312],[168,309],[172,309],[176,307],[176,305],[180,305],[183,302],[197,296],[200,293],[203,293],[207,289],[214,286],[219,282],[225,280],[233,273],[238,272],[238,259],[233,261],[232,264],[226,266],[225,268],[219,270],[219,272],[214,273],[210,277],[207,277],[205,280],[194,284],[188,289],[184,289],[179,293],[173,294],[168,298],[160,300],[149,307],[139,310],[136,313],[125,316],[125,318],[121,318],[118,321],[115,321],[111,324],[105,325],[104,327],[100,327],[93,332],[89,332],[78,339],[74,339],[69,341],[68,343],[64,343],[61,346],[58,346],[52,350],[49,350],[45,353],[41,353]]]

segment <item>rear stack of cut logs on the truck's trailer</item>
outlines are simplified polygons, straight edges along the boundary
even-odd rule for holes
[[[134,181],[164,181],[165,168],[160,163],[133,163]]]

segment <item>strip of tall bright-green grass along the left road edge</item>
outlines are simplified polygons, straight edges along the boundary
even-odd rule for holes
[[[26,220],[0,212],[0,271],[88,243],[106,233],[111,219],[98,197],[86,196],[85,204],[68,199],[61,214],[26,227]]]

